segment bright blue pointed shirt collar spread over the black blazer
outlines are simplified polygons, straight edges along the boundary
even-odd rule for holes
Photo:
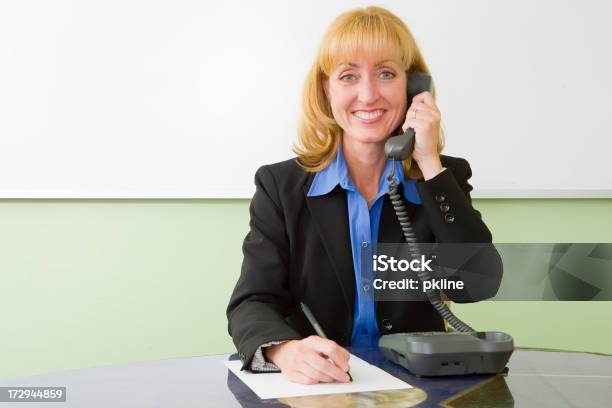
[[[389,175],[391,166],[393,164],[395,164],[395,177],[402,180],[402,184],[404,186],[404,198],[413,204],[421,204],[421,197],[416,189],[416,181],[412,179],[404,180],[403,166],[391,160],[387,161],[387,165],[385,166],[385,171],[383,172],[383,176],[380,180],[378,195],[376,198],[378,199],[378,197],[387,193],[389,186],[387,176]],[[309,197],[325,195],[331,192],[337,185],[340,185],[340,187],[345,190],[356,190],[351,177],[349,176],[346,162],[344,161],[342,145],[338,146],[336,157],[329,164],[329,166],[315,174],[314,180],[310,185],[307,195]]]

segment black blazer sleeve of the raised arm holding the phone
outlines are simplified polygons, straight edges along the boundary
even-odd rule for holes
[[[450,170],[450,171],[449,171]],[[439,246],[438,259],[445,273],[438,277],[462,280],[463,290],[445,290],[458,303],[475,302],[495,296],[503,274],[501,257],[492,243],[491,231],[480,212],[472,207],[468,180],[469,163],[453,158],[448,168],[427,181],[417,183],[423,209],[438,243],[482,243],[483,245]],[[487,245],[488,244],[488,245]],[[465,256],[465,250],[470,256]]]

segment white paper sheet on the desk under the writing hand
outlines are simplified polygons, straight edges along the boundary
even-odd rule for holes
[[[380,368],[351,354],[349,360],[353,382],[303,385],[286,380],[281,373],[240,371],[240,360],[225,365],[261,399],[301,397],[306,395],[340,394],[366,391],[399,390],[412,386]]]

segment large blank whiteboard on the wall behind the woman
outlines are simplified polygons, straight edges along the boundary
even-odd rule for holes
[[[326,27],[368,2],[3,1],[0,198],[248,198]],[[475,197],[612,197],[612,3],[381,1]]]

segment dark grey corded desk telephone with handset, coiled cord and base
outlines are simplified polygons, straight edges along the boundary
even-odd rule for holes
[[[408,76],[408,103],[424,91],[432,91],[431,76],[415,71]],[[420,255],[416,235],[404,200],[398,193],[395,166],[407,159],[414,150],[414,130],[390,137],[385,143],[385,154],[392,160],[389,172],[389,197],[402,227],[408,251],[412,257]],[[421,282],[432,279],[426,268],[417,272]],[[442,318],[457,332],[424,332],[387,334],[380,338],[382,353],[416,375],[460,375],[501,372],[514,351],[512,336],[502,332],[476,332],[461,321],[442,301],[436,289],[425,291],[427,299]],[[458,333],[459,332],[459,333]]]

